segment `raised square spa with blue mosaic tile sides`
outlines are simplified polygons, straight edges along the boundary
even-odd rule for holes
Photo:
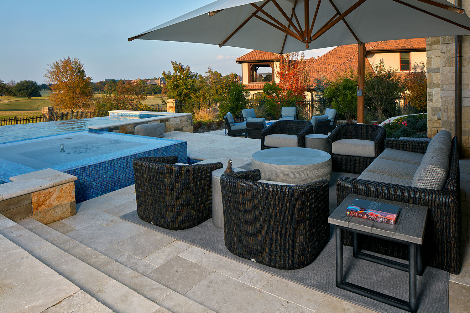
[[[78,177],[78,203],[132,185],[134,158],[170,155],[187,163],[186,141],[88,131],[20,140],[0,144],[0,183],[53,168]]]

